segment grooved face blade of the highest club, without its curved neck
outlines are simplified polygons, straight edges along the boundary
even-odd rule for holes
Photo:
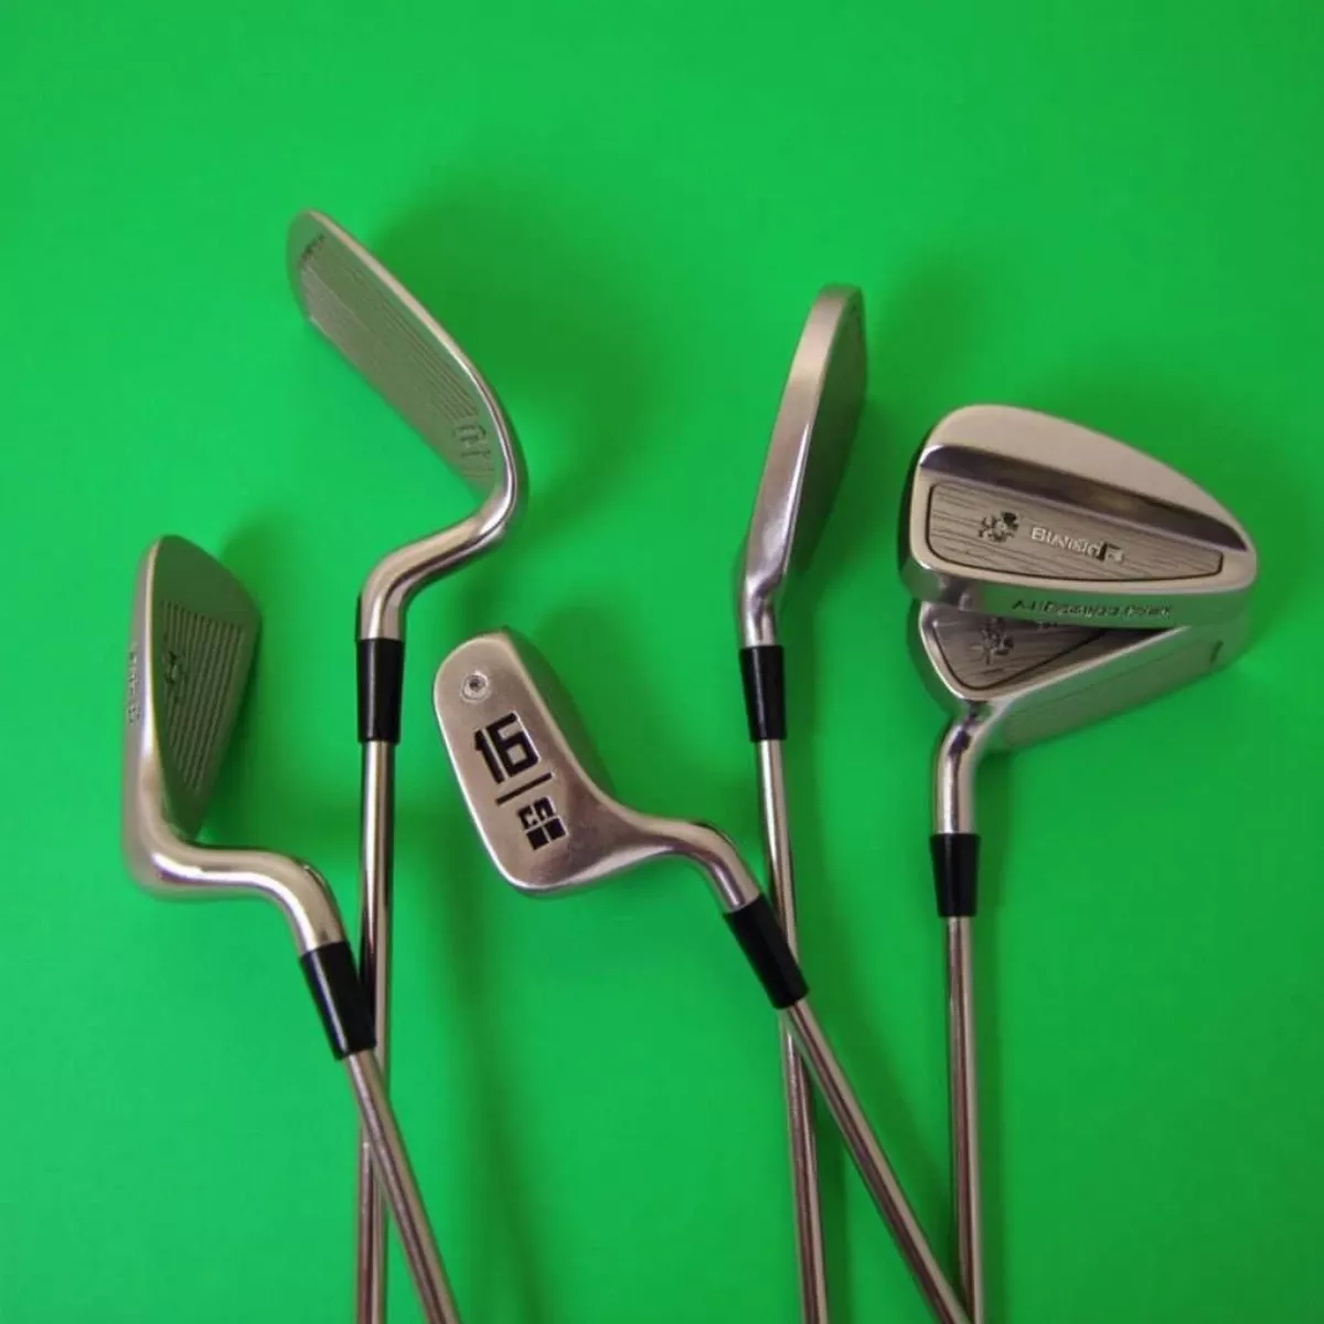
[[[519,463],[500,404],[463,350],[361,244],[301,212],[287,258],[307,319],[451,469],[489,491]]]

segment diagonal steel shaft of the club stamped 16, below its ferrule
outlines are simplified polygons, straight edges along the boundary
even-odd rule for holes
[[[809,1008],[809,1000],[801,998],[782,1010],[781,1016],[794,1033],[796,1045],[813,1072],[855,1168],[869,1188],[883,1222],[891,1230],[892,1239],[915,1276],[933,1319],[939,1320],[939,1324],[970,1324],[952,1284],[943,1276],[943,1270],[924,1239],[924,1231],[906,1201],[882,1145],[870,1129],[837,1055]]]

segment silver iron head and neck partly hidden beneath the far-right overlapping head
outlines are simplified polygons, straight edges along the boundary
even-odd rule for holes
[[[973,831],[973,777],[1016,749],[1139,707],[1226,666],[1245,617],[1172,630],[1104,630],[916,604],[915,663],[952,723],[935,767],[935,830]]]

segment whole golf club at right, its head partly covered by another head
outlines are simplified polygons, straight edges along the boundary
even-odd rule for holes
[[[978,1086],[970,923],[978,900],[974,776],[1016,749],[1136,707],[1226,665],[1245,616],[1173,630],[1104,630],[916,604],[911,646],[951,724],[933,767],[933,880],[947,937],[948,1088],[965,1308],[984,1319]]]

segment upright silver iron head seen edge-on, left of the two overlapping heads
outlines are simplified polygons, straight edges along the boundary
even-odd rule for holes
[[[776,643],[777,601],[822,534],[863,409],[867,371],[861,294],[829,286],[800,334],[745,535],[737,601],[743,647]]]

